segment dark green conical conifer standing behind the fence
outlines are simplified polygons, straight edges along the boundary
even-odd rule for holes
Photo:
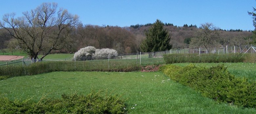
[[[170,36],[168,31],[163,29],[164,23],[157,20],[145,31],[146,39],[141,43],[140,49],[143,52],[165,51],[170,50]]]

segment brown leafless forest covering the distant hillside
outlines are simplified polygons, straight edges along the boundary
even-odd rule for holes
[[[130,27],[119,26],[98,26],[80,24],[75,31],[70,33],[72,41],[66,44],[65,49],[53,52],[75,52],[80,48],[94,46],[97,49],[111,48],[118,53],[133,53],[140,51],[140,44],[145,39],[144,32],[149,29],[152,23],[135,24]],[[196,37],[196,33],[201,27],[197,25],[184,24],[177,26],[172,23],[165,23],[164,28],[171,36],[170,43],[173,49],[193,47],[190,40]],[[252,31],[240,29],[219,29],[218,46],[248,45],[253,43]],[[0,29],[0,49],[7,49],[13,46],[8,45],[11,40],[10,35],[4,29]]]

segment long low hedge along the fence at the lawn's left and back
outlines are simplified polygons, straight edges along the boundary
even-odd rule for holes
[[[0,67],[0,79],[10,78],[15,76],[35,75],[40,73],[47,73],[53,71],[138,71],[139,64],[122,63],[118,61],[110,62],[108,66],[107,61],[51,61],[33,63],[29,66],[9,65]]]

